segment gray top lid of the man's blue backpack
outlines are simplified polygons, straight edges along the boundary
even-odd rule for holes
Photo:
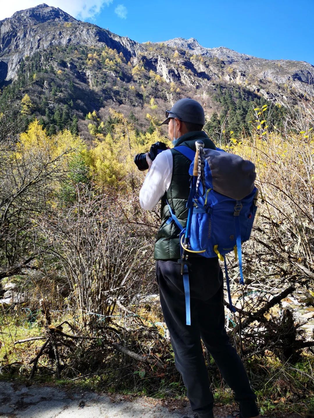
[[[240,155],[204,149],[212,171],[213,190],[235,200],[248,196],[254,189],[255,165]]]

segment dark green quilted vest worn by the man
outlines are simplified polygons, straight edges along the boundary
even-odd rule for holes
[[[201,139],[204,142],[204,148],[216,149],[212,140],[203,131],[194,131],[182,135],[176,143],[176,147],[185,145],[195,151],[195,141],[197,139]],[[171,153],[173,158],[172,178],[168,191],[161,199],[161,225],[155,242],[155,260],[179,260],[181,258],[179,243],[180,230],[174,222],[166,224],[166,220],[170,216],[166,200],[168,200],[171,209],[183,227],[186,226],[188,216],[186,202],[190,192],[189,167],[191,161],[179,153],[179,151],[172,149]]]

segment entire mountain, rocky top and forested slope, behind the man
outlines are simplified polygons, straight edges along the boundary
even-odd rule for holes
[[[110,132],[110,107],[131,115],[143,131],[161,120],[169,104],[193,97],[207,120],[216,115],[217,126],[218,116],[222,123],[229,118],[229,131],[240,134],[255,107],[275,104],[275,125],[281,106],[309,93],[314,66],[306,62],[204,48],[195,38],[138,43],[46,3],[0,21],[0,114],[11,109],[26,125],[26,115],[36,117],[50,133],[73,122],[75,132],[83,130],[92,140],[97,132]],[[107,128],[96,120],[97,132],[88,127],[93,111]]]

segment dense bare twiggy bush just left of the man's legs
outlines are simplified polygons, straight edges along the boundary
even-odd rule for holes
[[[82,313],[84,324],[87,314],[112,315],[117,298],[140,288],[146,243],[108,194],[77,186],[77,202],[43,216],[41,229],[63,266],[71,291],[67,302]]]

